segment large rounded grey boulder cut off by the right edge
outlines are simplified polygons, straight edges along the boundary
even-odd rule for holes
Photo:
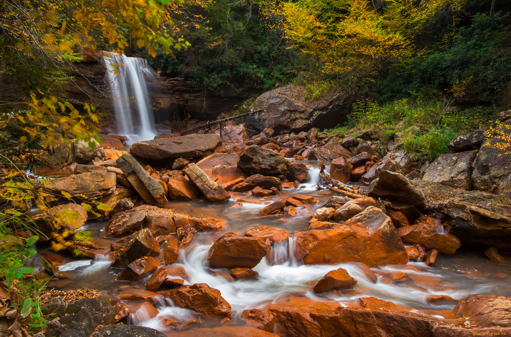
[[[503,123],[498,131],[511,134],[511,121]],[[499,150],[496,144],[502,140],[493,137],[486,140],[479,149],[473,163],[472,184],[474,188],[511,197],[511,155]]]

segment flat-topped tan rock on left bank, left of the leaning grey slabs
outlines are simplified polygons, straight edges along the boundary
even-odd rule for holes
[[[111,194],[115,190],[116,182],[115,173],[101,171],[53,179],[45,186],[52,190],[65,191],[73,197],[83,195],[87,199],[98,199]]]

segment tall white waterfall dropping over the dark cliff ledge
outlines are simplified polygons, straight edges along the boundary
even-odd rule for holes
[[[104,53],[106,79],[118,125],[117,134],[128,137],[131,143],[153,139],[156,132],[145,77],[145,73],[148,73],[147,61],[111,52]],[[138,113],[138,118],[134,119],[135,113]]]

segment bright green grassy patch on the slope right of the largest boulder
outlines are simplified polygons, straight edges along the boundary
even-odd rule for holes
[[[381,105],[370,101],[357,101],[348,116],[348,122],[329,129],[327,134],[345,134],[354,128],[393,128],[394,130],[382,130],[382,133],[390,140],[396,133],[402,132],[399,140],[403,143],[400,148],[408,150],[418,160],[426,161],[449,152],[447,144],[454,137],[492,125],[499,111],[502,109],[495,106],[452,111],[448,101],[438,99],[402,99]],[[406,130],[415,124],[421,124],[423,130],[412,135]],[[397,141],[398,137],[394,137]]]

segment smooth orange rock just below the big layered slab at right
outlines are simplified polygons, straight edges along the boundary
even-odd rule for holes
[[[460,240],[451,234],[436,233],[424,225],[413,225],[398,229],[399,236],[405,244],[420,244],[426,249],[436,248],[442,255],[453,256],[461,244]]]

